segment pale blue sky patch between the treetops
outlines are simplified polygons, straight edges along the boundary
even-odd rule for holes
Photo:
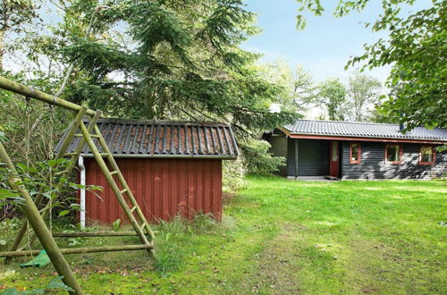
[[[375,21],[381,13],[380,3],[373,0],[362,13],[351,13],[343,18],[334,18],[332,8],[338,1],[323,0],[325,13],[321,17],[306,13],[305,30],[296,30],[296,15],[299,4],[295,0],[248,0],[249,11],[257,13],[257,25],[263,32],[245,42],[242,47],[264,54],[262,63],[275,58],[285,58],[291,65],[302,64],[316,81],[330,77],[348,80],[350,73],[344,66],[351,55],[360,55],[363,44],[374,43],[386,37],[385,32],[373,33],[360,22]],[[419,0],[403,13],[415,12],[430,4],[429,0]],[[389,67],[375,69],[368,74],[384,81]]]

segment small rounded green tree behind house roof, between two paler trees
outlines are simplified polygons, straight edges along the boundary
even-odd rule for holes
[[[338,79],[328,79],[318,87],[316,101],[325,105],[329,120],[345,120],[347,105],[347,90]]]

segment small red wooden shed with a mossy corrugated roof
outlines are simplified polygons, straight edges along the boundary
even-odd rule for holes
[[[148,220],[198,212],[221,218],[222,160],[239,155],[230,125],[121,119],[101,119],[97,125]],[[72,140],[68,152],[79,140]],[[87,145],[81,156],[85,184],[104,188],[86,192],[87,222],[125,221]]]

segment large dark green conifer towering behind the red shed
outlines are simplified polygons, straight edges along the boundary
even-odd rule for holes
[[[68,9],[72,15],[87,9],[81,2]],[[61,50],[84,75],[68,89],[73,102],[120,117],[231,122],[241,140],[295,118],[283,87],[260,75],[259,55],[240,49],[257,31],[240,0],[116,1],[97,21],[111,14],[108,26],[88,39],[69,37]],[[109,34],[118,22],[126,29]],[[281,112],[270,112],[287,99]]]

